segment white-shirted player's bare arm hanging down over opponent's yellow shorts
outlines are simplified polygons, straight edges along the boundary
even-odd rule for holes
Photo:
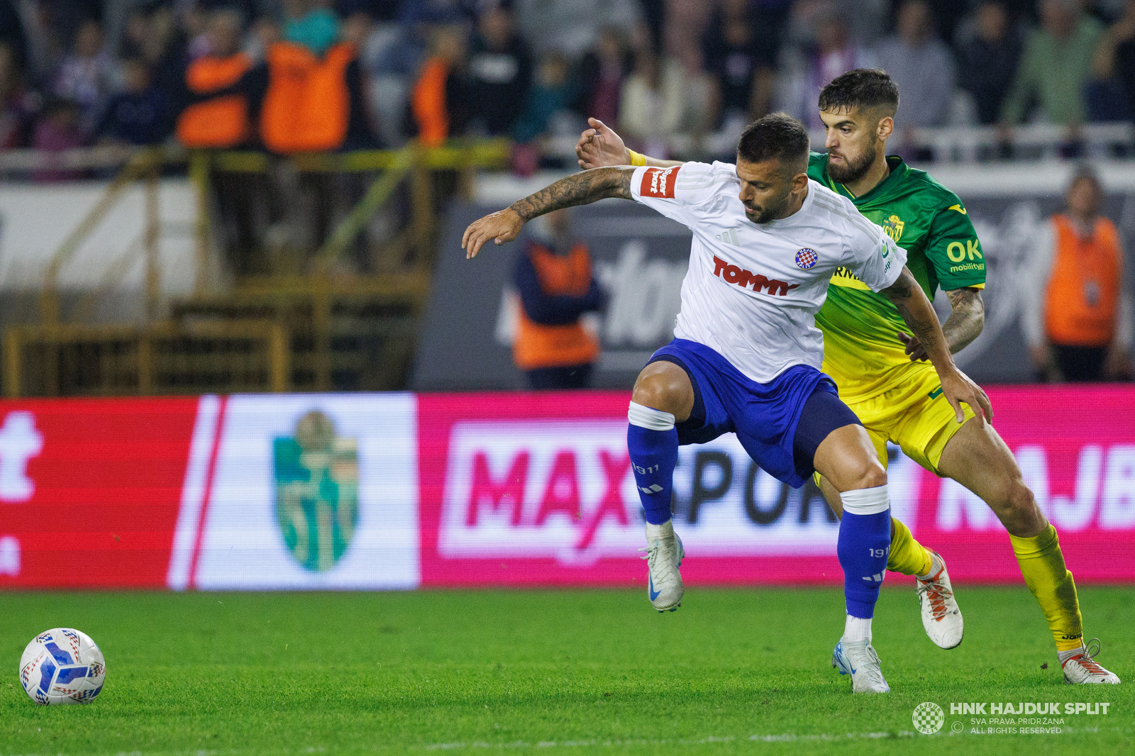
[[[961,404],[968,404],[974,410],[978,425],[984,425],[985,420],[992,420],[993,406],[990,404],[989,397],[977,384],[953,364],[953,358],[950,356],[950,348],[945,335],[938,324],[934,308],[931,306],[926,293],[922,291],[910,270],[903,266],[898,280],[881,293],[894,303],[902,320],[926,350],[926,354],[942,381],[942,393],[950,406],[953,408],[958,422],[965,420]]]

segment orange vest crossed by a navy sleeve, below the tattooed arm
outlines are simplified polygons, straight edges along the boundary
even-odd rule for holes
[[[586,244],[577,244],[565,258],[538,244],[533,244],[528,254],[546,294],[582,296],[591,285],[591,258]],[[521,306],[512,356],[521,370],[588,364],[599,356],[599,342],[578,321],[564,326],[532,322]]]

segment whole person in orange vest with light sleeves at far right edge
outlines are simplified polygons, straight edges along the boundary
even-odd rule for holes
[[[1115,224],[1100,215],[1103,191],[1087,168],[1073,177],[1067,212],[1052,216],[1035,246],[1025,313],[1029,353],[1042,380],[1130,377],[1132,300]]]

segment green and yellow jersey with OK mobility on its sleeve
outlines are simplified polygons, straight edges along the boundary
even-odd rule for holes
[[[898,156],[886,162],[890,175],[863,196],[832,180],[826,154],[812,154],[808,176],[850,199],[907,251],[907,268],[931,300],[939,286],[984,287],[985,258],[958,195]],[[844,268],[832,276],[816,326],[824,333],[824,371],[844,401],[890,387],[889,373],[909,363],[898,331],[910,330],[898,309]]]

